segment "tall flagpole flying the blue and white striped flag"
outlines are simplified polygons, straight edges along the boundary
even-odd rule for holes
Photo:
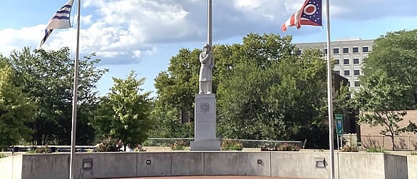
[[[71,154],[70,154],[70,171],[69,178],[74,178],[74,156],[76,154],[76,128],[77,128],[77,103],[78,103],[78,60],[80,58],[80,15],[81,0],[77,3],[77,44],[76,59],[74,61],[74,86],[73,86],[73,114],[71,129]]]

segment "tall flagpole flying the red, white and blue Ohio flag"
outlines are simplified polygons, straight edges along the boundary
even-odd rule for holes
[[[331,46],[330,46],[330,6],[326,0],[327,16],[327,106],[329,115],[329,149],[330,149],[330,178],[334,179],[334,139],[333,139],[333,90],[331,88]]]

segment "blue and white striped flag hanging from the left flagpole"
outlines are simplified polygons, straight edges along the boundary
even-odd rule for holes
[[[68,29],[71,27],[70,23],[70,14],[71,7],[73,6],[74,0],[69,0],[65,5],[63,5],[56,14],[53,15],[51,21],[48,22],[45,28],[45,36],[43,37],[39,47],[45,43],[48,36],[51,35],[53,29]]]

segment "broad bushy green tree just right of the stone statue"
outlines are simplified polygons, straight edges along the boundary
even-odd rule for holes
[[[320,141],[320,134],[326,136],[325,61],[319,51],[296,56],[291,53],[294,47],[287,43],[290,39],[273,38],[277,44],[286,44],[277,48],[281,49],[279,55],[258,56],[257,63],[242,62],[220,83],[220,133],[259,140],[308,138],[314,145],[325,145]]]

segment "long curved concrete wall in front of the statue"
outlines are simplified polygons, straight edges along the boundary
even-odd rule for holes
[[[417,156],[334,153],[336,178],[417,178]],[[83,160],[92,161],[83,168]],[[324,160],[324,167],[317,161]],[[180,175],[252,175],[329,178],[328,152],[76,153],[75,178]],[[0,159],[3,178],[68,178],[69,154],[30,154]]]

